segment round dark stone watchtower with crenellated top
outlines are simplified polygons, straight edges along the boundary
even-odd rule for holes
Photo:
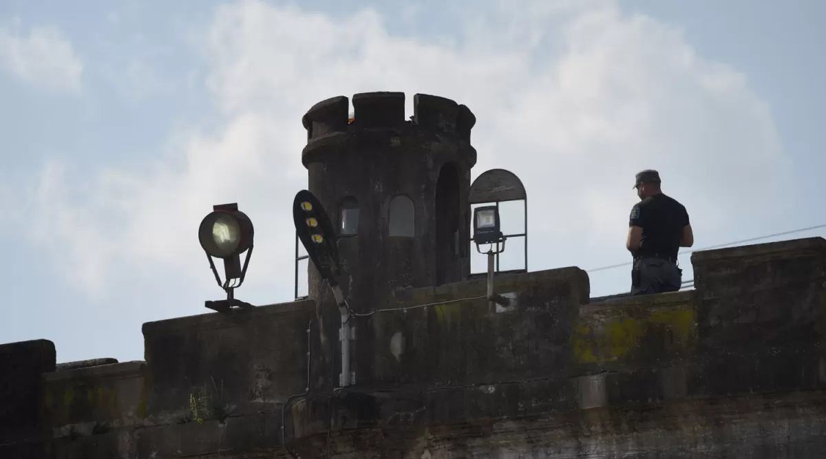
[[[413,101],[411,120],[403,92],[354,95],[352,121],[347,97],[317,103],[302,120],[309,190],[338,229],[340,282],[358,313],[386,307],[395,289],[458,282],[470,272],[476,117],[443,97]],[[314,267],[308,279],[310,298],[333,304]],[[356,348],[368,345],[358,341]]]

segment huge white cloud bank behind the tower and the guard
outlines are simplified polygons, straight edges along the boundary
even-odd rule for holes
[[[213,281],[197,224],[212,204],[238,201],[258,241],[244,298],[288,300],[289,206],[306,186],[301,115],[366,91],[404,91],[409,107],[415,92],[436,94],[476,113],[475,173],[509,168],[528,188],[534,270],[626,259],[630,187],[643,168],[658,168],[686,204],[698,244],[778,198],[781,146],[743,75],[613,2],[532,4],[468,19],[462,45],[394,36],[371,11],[220,7],[204,51],[224,124],[178,133],[167,151],[147,153],[145,170],[112,165],[83,189],[45,175],[52,188],[32,206],[34,237],[69,247],[66,273],[89,291],[105,292],[115,269],[174,273],[200,289]],[[69,230],[78,225],[83,240]]]

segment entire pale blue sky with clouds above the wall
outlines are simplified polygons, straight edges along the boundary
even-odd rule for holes
[[[818,0],[4,0],[0,343],[142,359],[141,324],[223,296],[196,233],[225,202],[256,229],[236,296],[292,300],[301,116],[358,92],[470,107],[472,176],[525,183],[531,271],[629,262],[644,168],[695,248],[824,224],[824,17]],[[591,296],[629,281],[593,272]]]

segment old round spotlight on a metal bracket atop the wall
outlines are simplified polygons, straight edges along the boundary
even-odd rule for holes
[[[212,206],[212,211],[201,220],[198,227],[198,241],[204,252],[207,253],[209,266],[215,275],[218,285],[226,291],[226,300],[207,301],[206,306],[211,310],[227,311],[234,306],[251,308],[252,305],[244,301],[235,300],[235,288],[244,283],[244,276],[249,266],[249,258],[253,254],[253,222],[244,212],[238,210],[238,204],[221,204]],[[244,265],[241,265],[241,253],[246,252]],[[224,276],[221,282],[218,270],[212,258],[224,260]]]

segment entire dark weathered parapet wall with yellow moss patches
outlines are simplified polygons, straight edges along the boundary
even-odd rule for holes
[[[826,241],[692,263],[695,291],[600,303],[575,267],[497,278],[510,310],[396,291],[346,390],[311,300],[145,324],[146,362],[2,345],[0,457],[824,457]]]

